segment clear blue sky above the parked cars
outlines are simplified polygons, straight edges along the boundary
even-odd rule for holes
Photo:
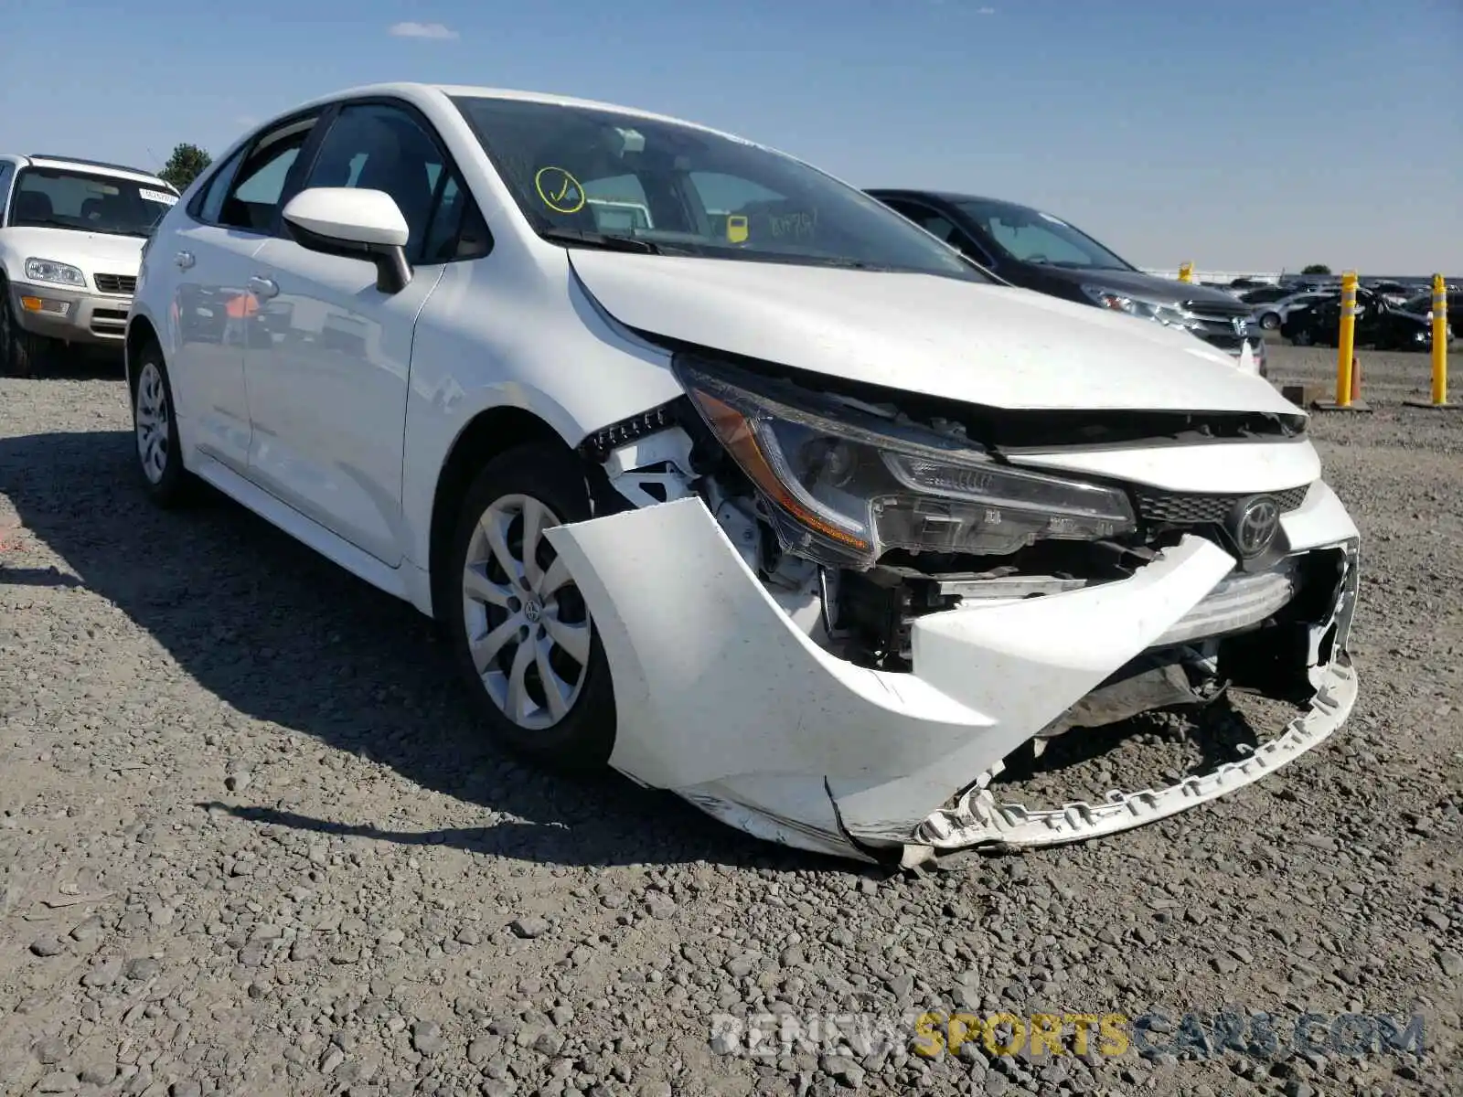
[[[149,165],[339,88],[481,83],[1037,205],[1141,266],[1463,272],[1463,0],[25,7],[3,151]]]

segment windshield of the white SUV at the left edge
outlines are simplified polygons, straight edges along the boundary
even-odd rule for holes
[[[177,200],[159,184],[72,168],[22,168],[10,199],[10,225],[145,237]]]

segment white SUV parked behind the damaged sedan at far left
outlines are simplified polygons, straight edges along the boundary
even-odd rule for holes
[[[120,351],[142,244],[177,199],[136,168],[0,154],[0,373],[60,344]]]

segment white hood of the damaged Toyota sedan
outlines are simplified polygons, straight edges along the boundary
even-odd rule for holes
[[[1028,290],[575,250],[585,290],[651,335],[849,380],[1011,410],[1301,410],[1200,339]]]

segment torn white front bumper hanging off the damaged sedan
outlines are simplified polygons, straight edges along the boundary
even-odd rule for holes
[[[614,680],[610,764],[761,838],[914,864],[983,845],[1122,831],[1239,788],[1346,720],[1356,527],[1312,486],[1282,519],[1293,553],[1347,547],[1331,622],[1312,644],[1309,709],[1251,756],[1172,788],[1052,812],[973,787],[1192,610],[1235,568],[1185,537],[1132,578],[969,603],[913,625],[913,671],[859,667],[774,603],[699,499],[547,532],[594,614]],[[1325,626],[1330,639],[1321,638]]]

